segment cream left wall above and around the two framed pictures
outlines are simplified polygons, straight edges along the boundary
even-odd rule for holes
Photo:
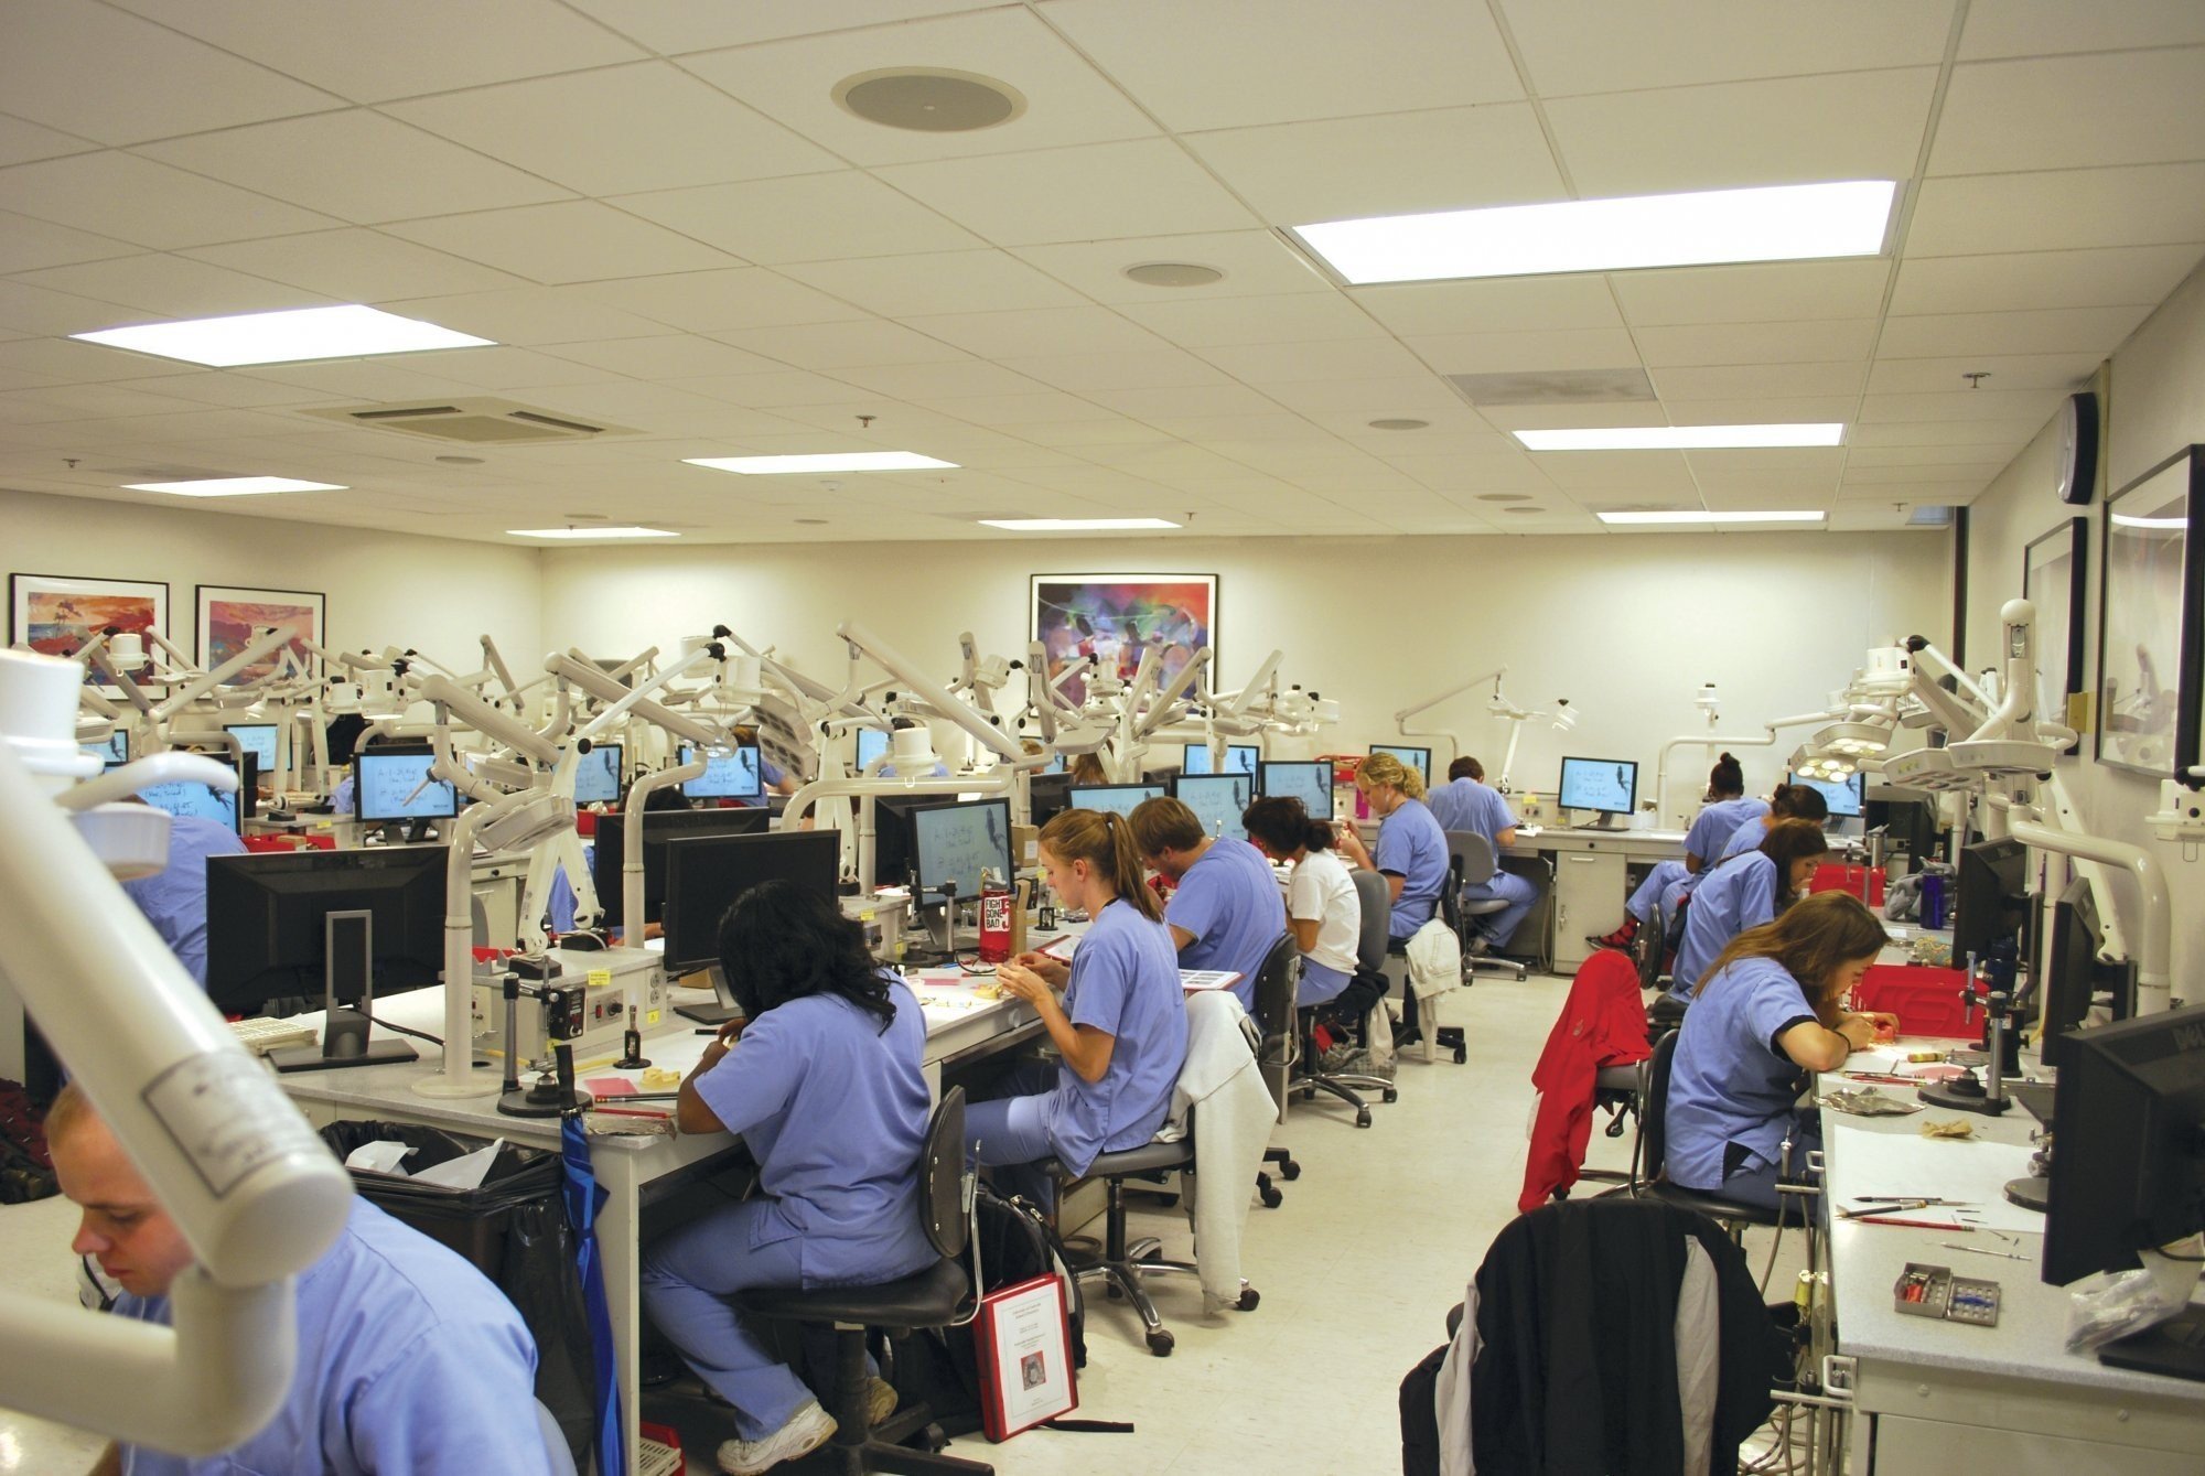
[[[168,582],[168,639],[194,650],[198,584],[320,590],[331,643],[404,645],[461,672],[487,632],[518,676],[542,656],[540,553],[190,507],[0,489],[11,573]]]

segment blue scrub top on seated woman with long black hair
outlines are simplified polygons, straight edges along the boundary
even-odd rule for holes
[[[882,1282],[933,1265],[919,1225],[926,1143],[926,1018],[889,976],[895,1020],[836,994],[807,994],[743,1027],[697,1077],[697,1095],[759,1161],[774,1196],[743,1253],[800,1236],[805,1287]]]

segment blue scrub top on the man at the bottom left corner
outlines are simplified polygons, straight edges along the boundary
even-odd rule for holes
[[[298,1278],[295,1306],[291,1390],[260,1434],[201,1461],[126,1445],[123,1472],[549,1469],[536,1425],[536,1339],[505,1293],[456,1253],[355,1198],[337,1242]],[[170,1322],[168,1298],[126,1293],[115,1313]]]

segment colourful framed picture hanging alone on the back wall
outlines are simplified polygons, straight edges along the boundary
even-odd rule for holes
[[[1094,656],[1120,681],[1133,681],[1144,650],[1162,652],[1158,685],[1166,685],[1197,652],[1217,663],[1217,575],[1032,575],[1028,634],[1047,652],[1050,681]],[[1085,701],[1087,681],[1063,687]]]

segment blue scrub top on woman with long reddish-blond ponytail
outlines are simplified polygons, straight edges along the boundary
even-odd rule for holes
[[[1098,1152],[1155,1137],[1186,1066],[1186,996],[1164,925],[1125,899],[1102,908],[1072,954],[1065,1018],[1116,1042],[1100,1082],[1058,1064],[1056,1090],[1043,1104],[1056,1161],[1085,1174]]]

